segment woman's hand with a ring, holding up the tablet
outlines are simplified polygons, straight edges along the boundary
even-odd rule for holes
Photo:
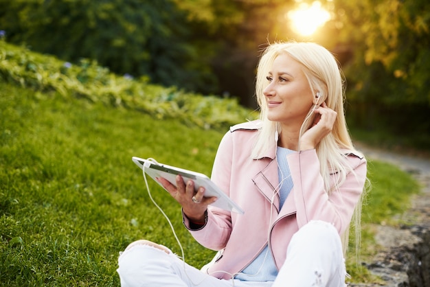
[[[190,180],[185,184],[180,175],[176,176],[176,186],[162,177],[158,177],[157,181],[182,206],[183,213],[188,219],[195,223],[205,222],[207,205],[214,203],[217,199],[215,196],[204,197],[205,187],[199,187],[199,190],[196,192],[194,181]]]

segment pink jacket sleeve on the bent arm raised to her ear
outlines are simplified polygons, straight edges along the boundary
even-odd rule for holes
[[[324,187],[316,150],[304,150],[288,156],[299,228],[310,220],[330,222],[339,234],[348,228],[363,192],[367,165],[364,157],[357,154],[348,154],[346,157],[352,165],[352,171],[346,174],[345,181],[338,189],[329,195]],[[332,177],[336,177],[336,174]]]

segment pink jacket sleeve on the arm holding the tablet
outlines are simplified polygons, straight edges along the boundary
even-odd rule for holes
[[[228,132],[221,140],[216,152],[211,178],[227,196],[229,196],[232,152],[231,133]],[[183,220],[185,227],[188,228],[190,226],[189,220],[185,216]],[[218,251],[227,244],[231,229],[231,213],[217,207],[208,206],[206,225],[199,230],[190,230],[190,233],[201,245]]]

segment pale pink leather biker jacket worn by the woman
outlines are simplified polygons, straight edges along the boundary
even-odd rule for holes
[[[207,224],[192,236],[203,246],[223,250],[207,271],[218,278],[230,279],[227,273],[242,271],[266,244],[279,268],[286,258],[286,249],[293,234],[310,220],[332,222],[339,234],[348,228],[367,172],[363,155],[345,150],[356,175],[348,174],[340,192],[330,196],[324,189],[315,150],[288,155],[294,187],[279,210],[276,145],[258,160],[250,157],[256,139],[258,121],[238,124],[223,137],[212,170],[212,181],[218,185],[245,214],[235,214],[210,206]],[[270,221],[270,222],[269,222]],[[184,218],[185,226],[189,226]],[[269,234],[269,236],[268,236]],[[226,271],[214,272],[214,271]]]

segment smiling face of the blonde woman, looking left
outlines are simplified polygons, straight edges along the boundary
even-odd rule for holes
[[[263,91],[267,100],[267,118],[301,126],[315,99],[302,65],[288,54],[281,54],[273,61],[267,80],[269,85]]]

